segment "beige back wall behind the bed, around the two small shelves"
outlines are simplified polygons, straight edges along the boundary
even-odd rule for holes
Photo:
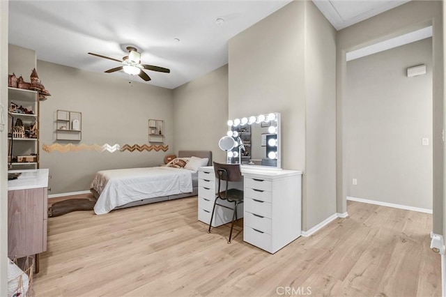
[[[95,172],[162,164],[173,153],[172,91],[102,73],[38,61],[38,75],[52,94],[40,102],[40,168],[49,168],[51,194],[89,190]],[[56,140],[56,110],[82,112],[82,140]],[[43,144],[148,144],[148,119],[164,120],[169,151],[47,153]]]

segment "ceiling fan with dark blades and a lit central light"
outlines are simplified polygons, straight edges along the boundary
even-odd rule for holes
[[[102,56],[101,54],[93,54],[92,52],[89,52],[89,54],[123,64],[122,66],[106,70],[105,73],[114,73],[115,71],[124,70],[124,72],[128,73],[129,75],[139,75],[139,77],[141,77],[141,79],[144,79],[146,82],[151,80],[151,77],[149,77],[143,71],[144,69],[157,71],[160,73],[170,73],[170,70],[167,68],[141,64],[141,54],[137,51],[137,49],[134,47],[126,47],[126,48],[128,50],[128,56],[124,56],[123,61],[119,61],[118,59],[110,58],[108,56]]]

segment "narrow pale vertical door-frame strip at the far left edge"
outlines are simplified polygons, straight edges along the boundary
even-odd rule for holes
[[[0,1],[0,103],[8,106],[8,1]],[[2,114],[6,121],[6,110]],[[5,128],[6,129],[6,128]],[[8,292],[8,133],[0,132],[0,296]]]

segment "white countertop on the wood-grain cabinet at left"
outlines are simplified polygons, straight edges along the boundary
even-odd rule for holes
[[[17,179],[8,181],[8,191],[48,187],[49,169],[9,170],[8,173],[22,173]]]

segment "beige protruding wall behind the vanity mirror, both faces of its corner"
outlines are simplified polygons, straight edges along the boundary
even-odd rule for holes
[[[302,229],[336,213],[336,31],[293,1],[229,40],[229,118],[280,112],[282,168],[304,172]]]

